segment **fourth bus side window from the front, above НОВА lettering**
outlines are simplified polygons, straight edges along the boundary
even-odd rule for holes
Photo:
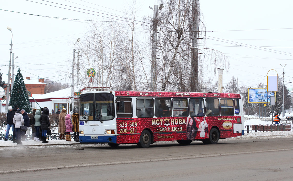
[[[188,99],[173,99],[173,116],[188,117]]]

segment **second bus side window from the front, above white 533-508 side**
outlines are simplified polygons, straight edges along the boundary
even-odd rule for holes
[[[154,100],[150,98],[136,99],[137,117],[154,117]]]

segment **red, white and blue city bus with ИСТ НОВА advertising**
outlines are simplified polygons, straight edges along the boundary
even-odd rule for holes
[[[190,144],[244,134],[241,94],[94,91],[80,95],[79,140],[110,146]]]

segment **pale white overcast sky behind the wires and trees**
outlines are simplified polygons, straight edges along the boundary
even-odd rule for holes
[[[89,21],[80,20],[114,21],[117,18],[115,16],[125,17],[122,12],[125,12],[127,4],[132,4],[132,1],[2,0],[0,69],[3,73],[3,81],[7,82],[11,43],[11,32],[6,26],[12,28],[13,52],[18,56],[15,60],[17,66],[15,73],[21,68],[24,78],[30,76],[38,79],[38,76],[42,76],[70,85],[70,75],[66,72],[71,72],[73,44],[79,37],[82,41],[82,36],[90,26]],[[136,4],[140,7],[137,20],[142,21],[143,16],[153,14],[149,6],[160,4],[160,1],[137,0]],[[283,68],[279,64],[283,66],[287,64],[285,85],[293,88],[293,84],[288,83],[293,82],[292,7],[293,1],[289,0],[200,0],[206,34],[200,33],[205,39],[200,40],[199,49],[204,47],[216,49],[229,57],[229,71],[225,69],[223,74],[224,86],[232,76],[235,76],[239,78],[239,86],[257,88],[258,83],[266,83],[266,75],[270,69],[275,69],[278,76],[282,76]],[[28,14],[79,20],[62,20]],[[148,29],[145,26],[139,28]],[[78,43],[75,45],[76,49],[77,47]],[[270,71],[269,75],[276,73]],[[208,77],[214,77],[214,74],[206,73],[205,76],[204,79],[207,80]],[[217,77],[214,77],[214,81],[217,81]]]

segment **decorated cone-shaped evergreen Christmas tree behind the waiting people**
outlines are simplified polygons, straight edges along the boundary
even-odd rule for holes
[[[17,74],[15,76],[15,81],[13,84],[13,90],[11,91],[9,105],[11,105],[12,107],[18,105],[18,107],[20,109],[24,109],[25,112],[31,112],[27,90],[20,69],[18,69]]]

